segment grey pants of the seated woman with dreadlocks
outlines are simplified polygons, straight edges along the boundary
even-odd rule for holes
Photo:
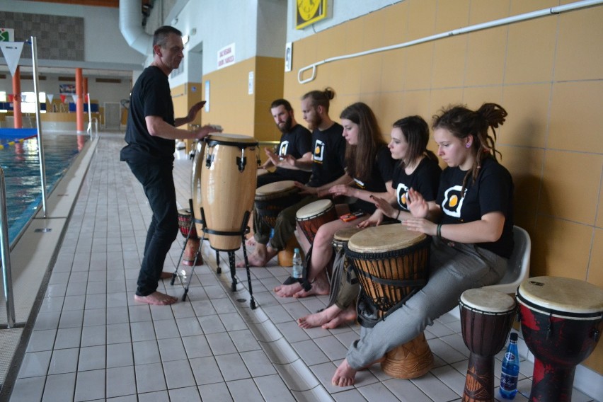
[[[373,328],[360,330],[348,350],[354,369],[383,357],[423,333],[425,327],[459,304],[466,289],[493,285],[503,277],[507,259],[473,244],[448,244],[433,239],[427,285]]]

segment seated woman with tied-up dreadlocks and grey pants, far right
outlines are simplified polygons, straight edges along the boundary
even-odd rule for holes
[[[496,161],[494,129],[507,112],[495,103],[476,111],[454,106],[432,128],[442,172],[437,206],[408,191],[413,217],[403,225],[433,236],[427,285],[373,328],[362,328],[335,370],[333,385],[354,384],[356,371],[408,343],[454,308],[466,289],[493,285],[503,276],[513,249],[513,182]],[[488,134],[492,129],[493,137]],[[437,222],[437,223],[435,223]]]

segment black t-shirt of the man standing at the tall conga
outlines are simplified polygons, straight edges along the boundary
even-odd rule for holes
[[[167,162],[174,159],[174,140],[154,137],[147,130],[147,116],[159,116],[174,125],[174,108],[168,76],[159,67],[147,67],[138,77],[127,117],[125,142],[120,159],[132,162]]]

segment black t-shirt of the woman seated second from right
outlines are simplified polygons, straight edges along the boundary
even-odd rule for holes
[[[391,187],[396,192],[398,209],[408,211],[406,200],[408,199],[408,190],[410,188],[417,190],[423,195],[425,201],[435,201],[441,174],[442,169],[437,164],[437,161],[433,161],[427,157],[421,159],[415,171],[410,173],[410,175],[406,174],[401,163],[396,163],[394,180],[391,181]]]

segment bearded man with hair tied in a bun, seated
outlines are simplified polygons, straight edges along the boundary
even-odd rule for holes
[[[311,91],[302,97],[302,113],[304,120],[312,130],[312,160],[303,161],[294,159],[287,155],[282,162],[289,163],[290,166],[311,171],[312,175],[308,183],[296,182],[297,187],[306,193],[297,204],[287,207],[278,214],[274,235],[268,241],[267,236],[255,236],[257,244],[255,251],[249,255],[249,265],[263,267],[277,253],[287,246],[287,241],[294,236],[297,210],[304,205],[318,200],[321,195],[326,195],[331,186],[335,184],[350,183],[352,178],[345,174],[345,139],[343,138],[343,127],[333,122],[328,115],[328,108],[331,99],[335,96],[332,88],[325,88],[323,91]],[[289,277],[285,285],[293,282],[299,282]],[[279,294],[280,287],[275,288]],[[279,294],[280,296],[288,296]]]

